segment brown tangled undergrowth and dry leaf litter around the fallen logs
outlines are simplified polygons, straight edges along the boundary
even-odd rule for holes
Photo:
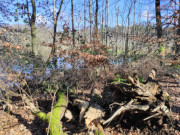
[[[71,40],[70,37],[66,37],[58,42],[67,46],[69,44],[67,42]],[[57,52],[53,55],[50,64],[43,62],[41,58],[27,55],[26,51],[22,53],[22,49],[27,48],[3,43],[3,49],[0,51],[0,134],[44,135],[49,133],[49,124],[33,114],[31,106],[23,99],[23,95],[35,107],[47,113],[51,112],[56,104],[57,91],[63,92],[68,101],[66,110],[69,111],[69,115],[66,111],[60,121],[64,133],[179,134],[180,80],[178,70],[175,70],[173,65],[161,66],[161,61],[155,56],[113,65],[110,63],[112,59],[109,54],[110,48],[104,46],[99,40],[93,40],[87,44],[79,43],[69,50],[57,47]],[[58,63],[58,58],[62,58],[62,63]],[[68,63],[70,68],[58,68],[66,67],[64,63]],[[140,86],[134,86],[136,83],[129,81],[128,77],[136,73],[138,81],[145,85],[152,69],[157,71],[155,81],[158,87],[170,94],[165,102],[170,104],[171,117],[161,114],[162,117],[152,117],[143,121],[142,119],[149,117],[149,111],[148,113],[138,112],[135,109],[122,113],[108,124],[103,124],[118,106],[122,106],[132,98],[123,95],[119,87],[140,88]],[[138,104],[139,100],[142,99],[134,103]],[[144,105],[146,99],[142,102]],[[84,114],[82,114],[83,105],[86,105]],[[152,106],[156,105],[151,104]],[[89,115],[90,109],[95,109],[95,112],[100,113],[100,117]]]

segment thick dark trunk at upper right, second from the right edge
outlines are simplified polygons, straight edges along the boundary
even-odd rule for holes
[[[160,0],[155,1],[156,7],[156,30],[157,30],[157,37],[161,38],[162,36],[162,25],[161,25],[161,11],[160,11]]]

